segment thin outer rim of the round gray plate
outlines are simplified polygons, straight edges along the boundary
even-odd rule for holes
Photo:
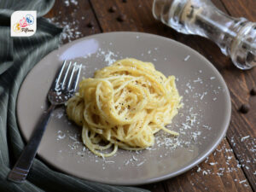
[[[47,57],[48,55],[52,54],[53,52],[57,51],[58,49],[65,49],[65,47],[68,47],[69,44],[76,44],[78,43],[79,41],[82,41],[82,40],[85,40],[85,39],[90,39],[90,38],[95,38],[97,36],[104,36],[104,35],[112,35],[112,34],[123,34],[123,35],[130,35],[130,34],[133,34],[133,35],[143,35],[144,37],[145,36],[148,36],[148,37],[152,37],[152,38],[161,38],[163,40],[166,40],[167,42],[172,42],[172,44],[177,44],[178,46],[181,46],[183,47],[184,49],[188,49],[190,52],[193,52],[195,55],[197,55],[198,57],[201,58],[201,60],[204,62],[205,65],[207,65],[208,67],[210,67],[212,69],[212,71],[218,76],[218,79],[220,80],[221,84],[224,85],[223,89],[226,93],[225,95],[225,99],[227,100],[227,114],[226,114],[226,118],[224,120],[224,129],[223,131],[221,132],[220,134],[220,137],[218,137],[217,141],[211,146],[211,148],[204,154],[201,154],[201,155],[198,155],[200,156],[200,158],[197,158],[193,163],[187,165],[187,166],[184,166],[183,168],[177,170],[176,172],[172,172],[172,173],[169,173],[169,174],[166,174],[166,175],[163,175],[163,176],[159,176],[159,177],[154,177],[154,178],[149,178],[149,179],[146,179],[144,181],[138,181],[138,182],[120,182],[120,181],[117,181],[116,183],[115,182],[106,182],[105,179],[97,179],[97,180],[93,180],[93,179],[90,179],[90,178],[84,178],[84,177],[79,177],[79,176],[76,176],[75,174],[73,174],[72,172],[68,172],[68,171],[63,171],[61,170],[61,168],[59,167],[56,167],[54,164],[52,164],[51,162],[49,162],[49,160],[45,159],[44,156],[42,156],[41,154],[38,154],[39,156],[39,159],[42,159],[44,160],[43,163],[46,163],[46,164],[49,164],[50,166],[53,166],[55,167],[55,169],[57,170],[57,172],[64,172],[64,173],[67,173],[68,175],[72,175],[73,177],[79,177],[79,178],[82,178],[84,180],[88,180],[88,181],[91,181],[91,182],[96,182],[96,183],[105,183],[105,184],[112,184],[112,185],[124,185],[124,186],[137,186],[137,185],[143,185],[143,184],[148,184],[148,183],[156,183],[156,182],[160,182],[160,181],[163,181],[163,180],[166,180],[166,179],[169,179],[169,178],[172,178],[172,177],[177,177],[178,175],[181,175],[183,174],[184,172],[188,172],[190,169],[192,169],[193,167],[197,166],[198,164],[200,164],[203,160],[205,160],[207,158],[207,156],[209,156],[209,154],[212,154],[213,150],[215,150],[219,143],[221,143],[221,141],[223,140],[228,128],[229,128],[229,125],[230,125],[230,118],[231,118],[231,99],[230,99],[230,91],[228,89],[228,86],[227,84],[225,83],[224,81],[224,78],[222,77],[221,73],[218,72],[218,69],[212,64],[211,61],[207,60],[207,58],[204,56],[204,55],[201,55],[198,51],[196,51],[195,49],[192,49],[190,48],[188,45],[186,44],[182,44],[172,38],[166,38],[166,37],[163,37],[163,36],[160,36],[160,35],[156,35],[156,34],[152,34],[152,33],[148,33],[148,32],[102,32],[102,33],[97,33],[97,34],[93,34],[93,35],[89,35],[89,36],[86,36],[84,38],[78,38],[70,43],[67,43],[67,44],[62,44],[61,46],[59,46],[57,49],[54,49],[52,51],[49,52],[49,54],[47,55],[44,55],[44,57],[38,61],[34,67],[32,67],[30,69],[30,71],[26,74],[26,76],[24,77],[22,83],[20,84],[20,89],[19,89],[19,92],[18,92],[18,95],[17,95],[17,102],[16,102],[16,108],[15,108],[15,111],[16,111],[16,117],[17,117],[17,124],[18,124],[18,127],[19,127],[19,130],[20,130],[20,133],[21,133],[21,136],[25,139],[26,143],[28,141],[28,139],[26,139],[25,137],[25,133],[24,131],[22,131],[22,129],[20,128],[20,118],[19,118],[19,113],[18,113],[18,103],[19,103],[19,100],[20,100],[20,90],[23,86],[23,84],[26,82],[26,79],[28,76],[31,75],[32,73],[32,70],[37,67],[38,63],[43,61],[45,57]]]

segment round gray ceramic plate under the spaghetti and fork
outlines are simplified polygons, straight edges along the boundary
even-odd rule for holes
[[[184,107],[173,119],[180,137],[160,132],[148,150],[119,149],[108,159],[91,154],[80,139],[81,129],[58,108],[49,122],[38,154],[62,172],[91,181],[136,185],[175,177],[199,164],[224,137],[230,122],[230,95],[221,75],[189,47],[146,33],[111,32],[81,38],[51,52],[26,76],[18,97],[20,131],[27,140],[47,108],[46,95],[63,60],[84,64],[82,76],[115,60],[134,57],[151,61],[157,70],[177,77]]]

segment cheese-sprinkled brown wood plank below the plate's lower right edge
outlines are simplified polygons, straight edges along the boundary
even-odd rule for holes
[[[236,157],[224,140],[207,160],[189,172],[166,181],[169,191],[252,191]]]

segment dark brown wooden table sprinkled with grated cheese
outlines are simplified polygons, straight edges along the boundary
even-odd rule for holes
[[[149,32],[187,44],[207,57],[218,68],[230,89],[232,117],[226,137],[207,160],[189,172],[141,187],[166,192],[256,191],[256,96],[249,93],[256,86],[256,68],[242,72],[211,41],[183,35],[154,20],[152,1],[56,0],[46,17],[65,28],[63,43],[99,32]],[[256,0],[212,2],[228,15],[256,21]],[[116,8],[113,12],[109,11],[112,6]],[[251,106],[246,114],[239,112],[242,103]]]

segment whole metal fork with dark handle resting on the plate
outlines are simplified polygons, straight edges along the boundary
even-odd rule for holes
[[[69,64],[67,64],[67,61],[63,62],[61,70],[56,74],[55,81],[51,84],[48,92],[50,106],[38,121],[26,148],[24,148],[22,154],[20,154],[20,158],[15,163],[14,168],[9,172],[8,179],[10,181],[22,183],[26,180],[26,176],[32,166],[33,159],[38,151],[38,146],[44,135],[46,125],[49,122],[50,114],[54,111],[56,106],[64,104],[73,96],[79,82],[81,67],[82,64],[78,66],[76,62],[72,63],[70,61]]]

